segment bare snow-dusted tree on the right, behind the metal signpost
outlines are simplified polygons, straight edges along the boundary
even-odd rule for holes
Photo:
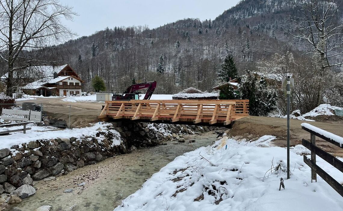
[[[338,0],[293,0],[301,16],[294,17],[298,27],[295,38],[305,40],[308,53],[317,60],[318,76],[323,77],[329,67],[343,66],[343,45],[338,37],[343,34],[340,2]],[[323,98],[323,80],[320,80],[317,104]]]

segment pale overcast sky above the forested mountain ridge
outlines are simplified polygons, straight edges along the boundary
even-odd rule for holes
[[[66,25],[78,37],[106,27],[148,25],[155,28],[183,18],[214,19],[239,0],[60,0],[79,14]]]

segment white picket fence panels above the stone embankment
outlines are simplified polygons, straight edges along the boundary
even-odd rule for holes
[[[33,121],[35,123],[41,123],[42,113],[40,113],[40,111],[2,109],[1,119],[16,121]]]

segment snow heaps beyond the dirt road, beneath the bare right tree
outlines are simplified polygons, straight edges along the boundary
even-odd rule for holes
[[[306,114],[302,114],[300,116],[295,116],[295,114],[301,114],[300,113],[300,110],[295,110],[292,112],[291,115],[289,115],[289,117],[291,119],[297,119],[297,120],[302,120],[302,121],[312,121],[314,122],[314,120],[310,120],[310,119],[307,119],[309,117],[316,117],[316,116],[319,116],[319,115],[327,115],[327,116],[332,116],[332,115],[335,115],[332,113],[332,111],[334,111],[335,109],[338,109],[338,110],[343,110],[343,108],[341,107],[337,107],[337,106],[332,106],[330,104],[320,104],[317,108],[313,109],[312,111],[310,112],[307,112]],[[287,118],[287,115],[280,115],[280,114],[277,114],[277,115],[270,115],[271,117],[280,117],[280,118]]]

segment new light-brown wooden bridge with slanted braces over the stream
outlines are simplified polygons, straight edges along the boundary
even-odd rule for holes
[[[98,119],[228,127],[248,112],[249,100],[106,101]]]

